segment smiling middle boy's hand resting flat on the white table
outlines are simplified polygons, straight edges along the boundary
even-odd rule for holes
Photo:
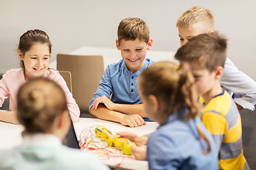
[[[144,119],[137,114],[134,115],[123,115],[122,120],[120,121],[122,125],[129,125],[129,127],[138,127],[141,125],[146,125]]]

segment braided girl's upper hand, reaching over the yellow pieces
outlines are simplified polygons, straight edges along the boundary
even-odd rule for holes
[[[138,137],[133,132],[117,132],[117,135],[120,135],[122,137],[126,137],[128,140],[134,142],[139,147],[142,146],[142,145],[146,145],[146,143],[149,139],[146,136]]]

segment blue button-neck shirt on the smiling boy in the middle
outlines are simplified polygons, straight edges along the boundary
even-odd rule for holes
[[[119,104],[141,104],[137,91],[137,79],[139,74],[154,62],[151,59],[144,60],[144,66],[139,71],[131,73],[125,66],[124,60],[109,64],[100,80],[99,87],[90,101],[90,108],[95,98],[107,96],[111,101]],[[89,111],[90,111],[89,108]]]

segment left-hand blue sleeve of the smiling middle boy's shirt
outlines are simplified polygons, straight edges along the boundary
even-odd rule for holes
[[[112,84],[111,84],[111,75],[110,75],[110,66],[108,65],[105,72],[102,75],[102,79],[100,80],[99,87],[97,88],[97,91],[92,97],[92,100],[90,101],[90,108],[92,108],[92,103],[95,101],[95,98],[101,97],[101,96],[107,96],[107,98],[110,98],[110,95],[112,94]]]

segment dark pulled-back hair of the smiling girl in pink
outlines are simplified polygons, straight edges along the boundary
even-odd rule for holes
[[[47,44],[49,47],[49,52],[51,52],[52,45],[50,38],[43,30],[28,30],[26,33],[23,33],[18,43],[18,50],[21,50],[21,53],[24,56],[26,52],[31,49],[31,46],[36,42]],[[25,68],[23,60],[21,60],[21,68]]]

